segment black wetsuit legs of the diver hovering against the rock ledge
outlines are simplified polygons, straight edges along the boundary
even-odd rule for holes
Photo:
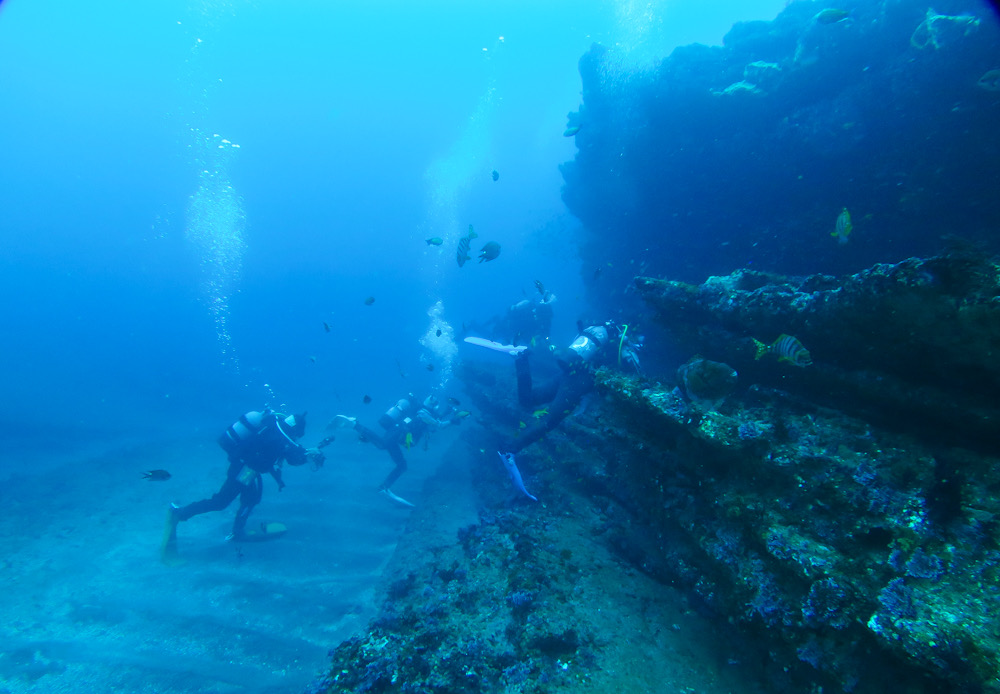
[[[559,372],[555,377],[541,384],[535,384],[531,377],[530,352],[522,352],[514,360],[517,371],[517,399],[521,407],[530,409],[546,405],[548,410],[520,435],[503,442],[506,453],[517,453],[559,426],[562,420],[572,414],[583,397],[594,389],[594,375],[590,366],[575,353],[558,360]]]

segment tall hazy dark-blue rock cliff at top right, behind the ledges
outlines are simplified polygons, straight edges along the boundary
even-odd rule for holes
[[[592,300],[635,274],[843,274],[934,254],[956,228],[1000,249],[989,6],[868,0],[840,21],[819,19],[825,8],[791,3],[649,71],[600,45],[583,56],[562,173]]]

